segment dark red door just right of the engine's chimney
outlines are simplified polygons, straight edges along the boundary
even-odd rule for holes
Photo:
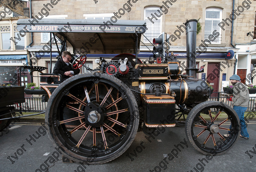
[[[220,77],[220,75],[218,75],[219,68],[217,68],[216,65],[219,66],[219,63],[208,63],[208,65],[207,65],[207,76],[208,76],[207,81],[210,82],[210,86],[213,87],[213,89],[214,89],[213,92],[219,92],[219,77]],[[216,76],[215,73],[218,76]],[[211,97],[217,97],[217,96],[218,96],[218,93],[212,93],[212,95],[211,95]]]

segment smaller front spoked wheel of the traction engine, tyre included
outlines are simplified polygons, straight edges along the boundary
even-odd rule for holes
[[[227,118],[217,122],[219,115],[226,115]],[[217,155],[233,146],[240,129],[236,112],[229,105],[218,101],[207,101],[195,106],[188,114],[185,126],[187,138],[194,148],[203,154]],[[229,138],[223,137],[229,131]]]

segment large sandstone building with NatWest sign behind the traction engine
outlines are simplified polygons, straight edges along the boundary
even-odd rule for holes
[[[53,3],[52,3],[53,2]],[[234,15],[232,14],[234,2]],[[209,39],[210,35],[215,33],[215,39],[206,42],[205,48],[201,51],[205,53],[226,53],[229,50],[235,51],[235,58],[228,60],[228,66],[219,71],[211,81],[214,91],[221,91],[222,81],[229,81],[237,69],[247,69],[251,64],[252,51],[244,51],[251,47],[253,39],[247,36],[248,32],[254,30],[254,20],[256,3],[253,0],[33,0],[32,12],[35,19],[40,17],[55,19],[105,19],[106,23],[115,22],[115,20],[145,20],[148,30],[145,35],[152,40],[159,34],[165,32],[170,37],[170,50],[178,55],[178,59],[186,62],[186,33],[182,29],[183,23],[189,19],[199,19],[201,23],[201,32],[197,35],[197,48],[200,49],[202,41]],[[240,11],[240,12],[239,12]],[[237,15],[237,14],[239,15]],[[36,16],[38,18],[36,18]],[[158,16],[158,17],[157,17]],[[231,18],[230,18],[231,16]],[[232,18],[233,16],[233,18]],[[149,18],[148,18],[149,17]],[[224,20],[224,21],[223,21]],[[232,34],[233,21],[233,34]],[[154,23],[153,23],[154,22]],[[219,23],[224,23],[218,25]],[[183,25],[184,26],[184,25]],[[180,27],[181,30],[178,28]],[[214,32],[215,31],[215,32]],[[218,35],[218,36],[216,36]],[[30,52],[36,52],[49,39],[49,34],[34,33],[34,44],[28,48]],[[231,45],[231,37],[233,39]],[[212,37],[211,37],[212,38]],[[152,50],[150,42],[142,38],[144,44]],[[252,44],[252,45],[251,45]],[[140,46],[140,52],[148,53],[145,46]],[[56,49],[55,49],[56,51]],[[236,62],[238,59],[238,62]],[[245,65],[238,65],[244,62]],[[54,59],[55,60],[55,59]],[[49,58],[45,57],[38,61],[41,66],[48,66]],[[217,64],[226,63],[224,58],[197,58],[197,67],[206,65],[204,74],[198,75],[199,78],[207,76],[215,69]],[[88,58],[88,65],[92,68],[94,58]],[[48,71],[49,72],[49,71]],[[244,72],[244,71],[243,71]],[[246,70],[248,75],[251,71]],[[38,82],[38,81],[37,81]],[[231,84],[229,82],[229,84]]]

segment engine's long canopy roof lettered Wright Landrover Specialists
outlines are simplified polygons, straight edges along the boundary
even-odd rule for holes
[[[57,37],[64,37],[71,45],[75,54],[121,54],[135,53],[136,39],[135,29],[138,31],[138,38],[146,31],[144,21],[140,20],[118,20],[108,26],[106,20],[96,19],[19,19],[17,29],[26,28],[28,32],[52,32]],[[144,25],[144,26],[143,26]],[[27,32],[27,31],[26,31]],[[140,47],[140,41],[137,42]],[[84,53],[87,52],[87,53]]]

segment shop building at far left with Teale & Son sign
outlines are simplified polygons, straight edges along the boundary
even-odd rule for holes
[[[22,36],[17,30],[18,19],[28,18],[24,16],[24,8],[27,8],[27,1],[0,1],[0,85],[26,85],[31,82],[27,70],[22,74],[17,70],[27,63],[29,56],[24,49],[30,44],[29,34]],[[15,81],[10,82],[13,79]]]

